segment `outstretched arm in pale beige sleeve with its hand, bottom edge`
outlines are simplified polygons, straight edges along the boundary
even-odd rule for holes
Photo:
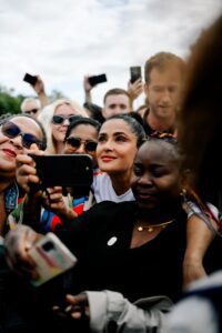
[[[173,303],[165,296],[145,297],[134,304],[121,293],[104,290],[87,291],[79,295],[67,295],[67,306],[54,306],[63,317],[84,320],[92,332],[162,332],[167,315]]]

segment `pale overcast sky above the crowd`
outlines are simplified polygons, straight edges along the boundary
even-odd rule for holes
[[[84,74],[107,73],[92,91],[127,88],[129,67],[159,51],[186,58],[202,29],[222,13],[221,0],[0,0],[0,84],[33,95],[22,81],[40,74],[83,103]]]

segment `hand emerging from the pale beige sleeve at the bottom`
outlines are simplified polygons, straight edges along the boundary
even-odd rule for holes
[[[89,301],[85,293],[65,296],[67,306],[64,309],[54,305],[53,311],[61,317],[71,316],[74,320],[90,320]]]

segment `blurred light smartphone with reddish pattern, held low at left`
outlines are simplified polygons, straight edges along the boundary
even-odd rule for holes
[[[78,261],[75,255],[52,232],[42,236],[29,250],[29,255],[34,261],[39,274],[37,280],[31,280],[31,284],[34,286],[73,268]]]

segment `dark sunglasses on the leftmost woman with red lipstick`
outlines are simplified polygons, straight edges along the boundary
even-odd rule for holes
[[[1,132],[3,133],[3,135],[6,135],[7,138],[10,138],[10,139],[14,139],[18,135],[21,135],[22,147],[24,147],[27,149],[30,149],[32,143],[36,143],[39,147],[39,149],[44,149],[43,142],[41,142],[39,139],[37,139],[36,135],[33,135],[31,133],[23,133],[20,130],[20,128],[11,121],[6,122],[1,127]]]

